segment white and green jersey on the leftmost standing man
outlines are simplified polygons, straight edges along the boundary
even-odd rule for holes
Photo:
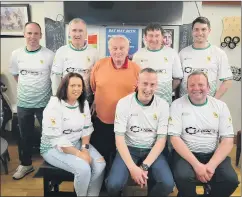
[[[51,96],[51,66],[54,53],[41,47],[27,51],[26,47],[12,52],[9,70],[18,75],[17,106],[23,108],[45,107]]]

